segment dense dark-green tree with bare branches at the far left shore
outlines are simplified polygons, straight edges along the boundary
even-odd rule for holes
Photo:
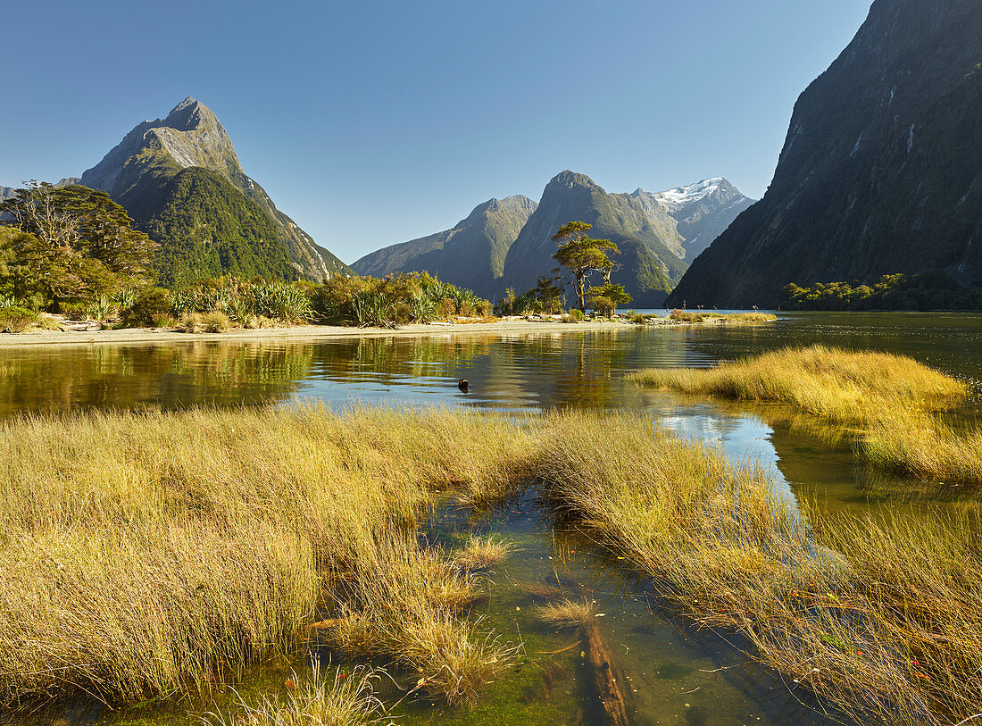
[[[126,210],[82,185],[28,182],[0,203],[11,241],[12,281],[19,294],[39,293],[52,306],[86,302],[145,281],[156,247],[131,229]]]

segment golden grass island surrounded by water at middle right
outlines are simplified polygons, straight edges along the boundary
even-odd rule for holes
[[[885,413],[945,411],[965,385],[913,359],[826,346],[785,348],[715,368],[649,368],[639,385],[794,406],[819,419],[868,423]]]

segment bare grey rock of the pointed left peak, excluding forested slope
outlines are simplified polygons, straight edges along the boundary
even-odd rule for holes
[[[191,96],[172,109],[167,118],[138,124],[98,164],[82,174],[81,184],[105,191],[127,209],[137,226],[149,229],[155,214],[163,208],[174,208],[176,201],[169,194],[176,187],[171,181],[191,168],[218,175],[206,188],[219,198],[198,207],[198,213],[206,208],[245,209],[247,205],[231,194],[234,190],[269,217],[280,245],[286,248],[290,263],[301,275],[321,279],[350,272],[344,262],[314,244],[296,222],[276,208],[265,190],[246,175],[225,127],[211,109]],[[231,190],[223,189],[225,185]],[[205,187],[198,185],[197,189]],[[251,226],[251,222],[247,224]],[[174,230],[178,236],[185,233],[192,235],[194,230]],[[158,242],[170,245],[180,243],[180,239]],[[263,240],[264,249],[268,243]],[[278,256],[268,261],[271,269],[278,268]]]

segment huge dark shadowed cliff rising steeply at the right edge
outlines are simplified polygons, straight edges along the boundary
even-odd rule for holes
[[[774,307],[790,282],[938,268],[982,284],[978,0],[875,0],[798,97],[774,180],[668,305]]]

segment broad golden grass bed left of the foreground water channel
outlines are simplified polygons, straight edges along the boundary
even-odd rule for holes
[[[453,698],[472,693],[478,676],[457,668],[504,648],[456,613],[473,596],[467,581],[414,541],[385,548],[435,489],[502,490],[527,446],[503,417],[441,412],[6,421],[0,700],[74,689],[141,698],[207,684],[223,667],[297,644],[325,594],[379,629],[393,626],[380,618],[399,620],[389,650],[422,662],[416,653],[429,648],[446,665],[439,683],[466,682]],[[388,610],[352,594],[353,579],[374,583],[399,562]]]

